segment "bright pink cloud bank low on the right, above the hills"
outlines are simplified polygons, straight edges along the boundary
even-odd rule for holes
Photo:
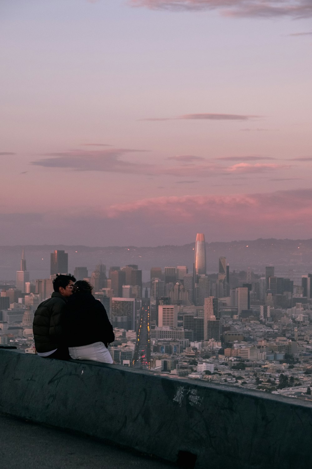
[[[198,224],[210,220],[218,227],[240,224],[242,230],[261,224],[309,222],[312,226],[312,189],[235,196],[158,197],[110,206],[104,217],[139,216],[141,222]],[[248,228],[249,229],[249,228]]]

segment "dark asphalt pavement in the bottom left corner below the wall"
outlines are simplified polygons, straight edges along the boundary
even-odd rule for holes
[[[116,446],[0,414],[1,469],[166,469]]]

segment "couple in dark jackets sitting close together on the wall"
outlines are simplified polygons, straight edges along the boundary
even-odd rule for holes
[[[108,345],[115,340],[102,303],[85,280],[57,275],[51,298],[40,303],[33,332],[38,356],[59,360],[114,363]]]

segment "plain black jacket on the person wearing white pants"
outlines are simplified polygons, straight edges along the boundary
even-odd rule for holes
[[[113,326],[101,302],[91,293],[73,293],[68,298],[63,316],[68,347],[103,342],[106,347],[115,340]]]

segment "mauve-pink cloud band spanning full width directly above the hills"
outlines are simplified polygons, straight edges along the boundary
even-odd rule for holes
[[[194,233],[206,241],[257,238],[311,238],[312,189],[234,196],[158,197],[108,208],[71,207],[68,212],[7,213],[2,237],[23,243],[94,246],[183,244]],[[1,218],[1,219],[2,219]],[[30,220],[30,224],[29,224]],[[223,254],[223,253],[220,253]]]

